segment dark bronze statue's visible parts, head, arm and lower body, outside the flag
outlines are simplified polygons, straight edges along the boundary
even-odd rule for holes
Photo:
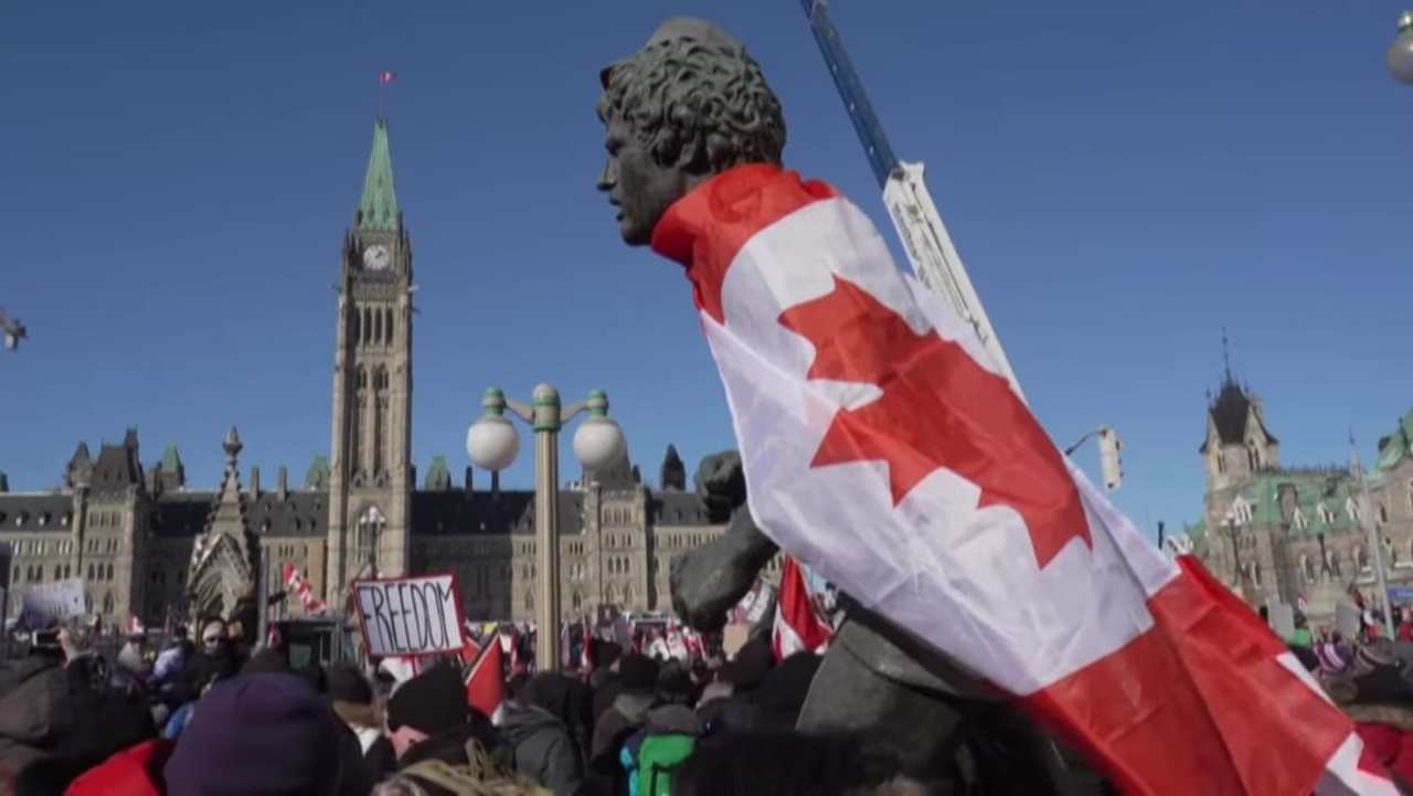
[[[716,174],[781,161],[780,100],[742,44],[709,23],[668,20],[639,52],[605,68],[601,83],[608,163],[598,188],[617,208],[619,232],[630,246],[651,243],[667,208]],[[738,455],[704,460],[697,488],[728,532],[673,561],[673,605],[691,626],[715,629],[776,546],[746,509]],[[1060,793],[1080,776],[1007,700],[852,604],[815,676],[800,730],[887,732],[911,765],[985,793]]]

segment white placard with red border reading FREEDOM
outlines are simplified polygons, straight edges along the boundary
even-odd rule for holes
[[[437,655],[462,648],[456,575],[353,581],[353,604],[372,656]]]

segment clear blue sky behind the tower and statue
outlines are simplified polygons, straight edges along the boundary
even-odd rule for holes
[[[1137,523],[1200,513],[1224,325],[1286,462],[1342,460],[1351,428],[1369,458],[1413,404],[1396,3],[832,8],[1046,428],[1119,428]],[[598,69],[673,14],[746,42],[787,161],[892,238],[796,0],[6,3],[0,305],[32,334],[0,353],[11,489],[129,424],[146,461],[175,443],[211,488],[232,423],[266,484],[328,451],[331,286],[380,69],[420,284],[420,472],[445,454],[459,481],[482,389],[540,380],[606,389],[653,481],[668,443],[690,467],[732,447],[684,279],[622,245],[592,185]],[[528,450],[507,484],[530,482]]]

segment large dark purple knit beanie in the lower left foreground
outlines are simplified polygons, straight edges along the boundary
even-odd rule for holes
[[[339,724],[302,677],[242,674],[196,703],[164,773],[167,796],[333,796]]]

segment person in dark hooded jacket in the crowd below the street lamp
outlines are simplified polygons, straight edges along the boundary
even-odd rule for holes
[[[568,727],[568,677],[536,674],[507,704],[500,734],[514,751],[516,771],[554,792],[554,796],[584,793],[584,758]],[[572,680],[571,680],[572,681]]]

